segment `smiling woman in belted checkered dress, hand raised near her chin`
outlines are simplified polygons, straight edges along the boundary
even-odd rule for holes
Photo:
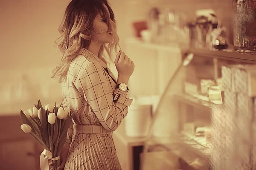
[[[132,102],[126,95],[134,63],[119,51],[117,81],[107,67],[103,50],[111,54],[119,41],[113,11],[107,0],[72,0],[59,31],[63,57],[52,77],[59,77],[64,102],[75,115],[58,169],[121,170],[112,132]]]

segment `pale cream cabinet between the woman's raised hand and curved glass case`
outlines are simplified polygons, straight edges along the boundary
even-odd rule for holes
[[[160,95],[181,62],[181,50],[144,43],[137,38],[125,42],[125,54],[134,61],[129,79],[130,96]]]

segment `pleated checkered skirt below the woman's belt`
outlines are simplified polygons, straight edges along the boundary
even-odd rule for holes
[[[122,170],[112,135],[75,133],[64,170]]]

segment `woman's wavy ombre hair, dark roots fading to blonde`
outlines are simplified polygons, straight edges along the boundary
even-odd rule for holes
[[[106,6],[104,6],[104,4]],[[107,7],[107,8],[106,8]],[[106,62],[104,49],[111,58],[112,51],[119,45],[119,37],[116,33],[116,20],[107,0],[72,0],[66,8],[64,18],[59,27],[61,36],[55,41],[58,49],[63,54],[61,61],[52,71],[52,78],[58,76],[58,82],[66,79],[70,63],[76,58],[76,54],[81,48],[88,48],[93,36],[93,23],[97,14],[105,16],[108,28],[112,28],[113,42],[102,45],[99,49],[98,57]]]

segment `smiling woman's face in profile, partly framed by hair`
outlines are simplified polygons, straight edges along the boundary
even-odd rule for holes
[[[105,16],[98,14],[94,20],[94,34],[92,41],[99,44],[106,44],[113,42],[113,33],[108,24]]]

